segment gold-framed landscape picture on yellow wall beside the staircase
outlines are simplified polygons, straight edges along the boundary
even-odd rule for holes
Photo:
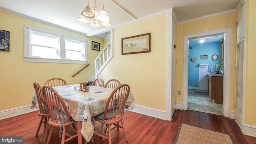
[[[122,55],[150,52],[150,33],[122,38]]]

